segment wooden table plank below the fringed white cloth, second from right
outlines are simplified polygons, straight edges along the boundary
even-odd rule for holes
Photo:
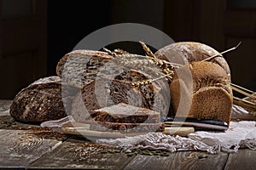
[[[125,169],[223,169],[227,154],[179,151],[170,156],[137,155]]]

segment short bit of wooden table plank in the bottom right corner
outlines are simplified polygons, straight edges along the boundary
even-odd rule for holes
[[[238,153],[232,153],[226,163],[225,170],[229,169],[256,169],[256,151],[239,150]]]

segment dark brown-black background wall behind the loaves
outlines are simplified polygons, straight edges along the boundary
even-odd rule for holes
[[[224,51],[232,82],[256,90],[256,1],[253,0],[0,0],[0,99],[13,99],[88,34],[117,23],[140,23],[175,42]],[[133,47],[131,44],[128,47]]]

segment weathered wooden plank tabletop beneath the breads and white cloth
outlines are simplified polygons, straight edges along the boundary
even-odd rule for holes
[[[37,125],[15,122],[9,116],[10,104],[10,100],[0,100],[1,169],[256,169],[256,151],[247,149],[218,155],[200,151],[169,156],[106,153],[88,139],[58,132],[47,136],[47,130]]]

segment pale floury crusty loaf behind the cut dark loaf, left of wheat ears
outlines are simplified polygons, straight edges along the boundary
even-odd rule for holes
[[[60,59],[56,66],[56,73],[64,82],[83,88],[86,84],[93,82],[100,71],[104,71],[105,75],[110,74],[111,69],[103,68],[110,59],[113,57],[104,52],[75,50]]]

